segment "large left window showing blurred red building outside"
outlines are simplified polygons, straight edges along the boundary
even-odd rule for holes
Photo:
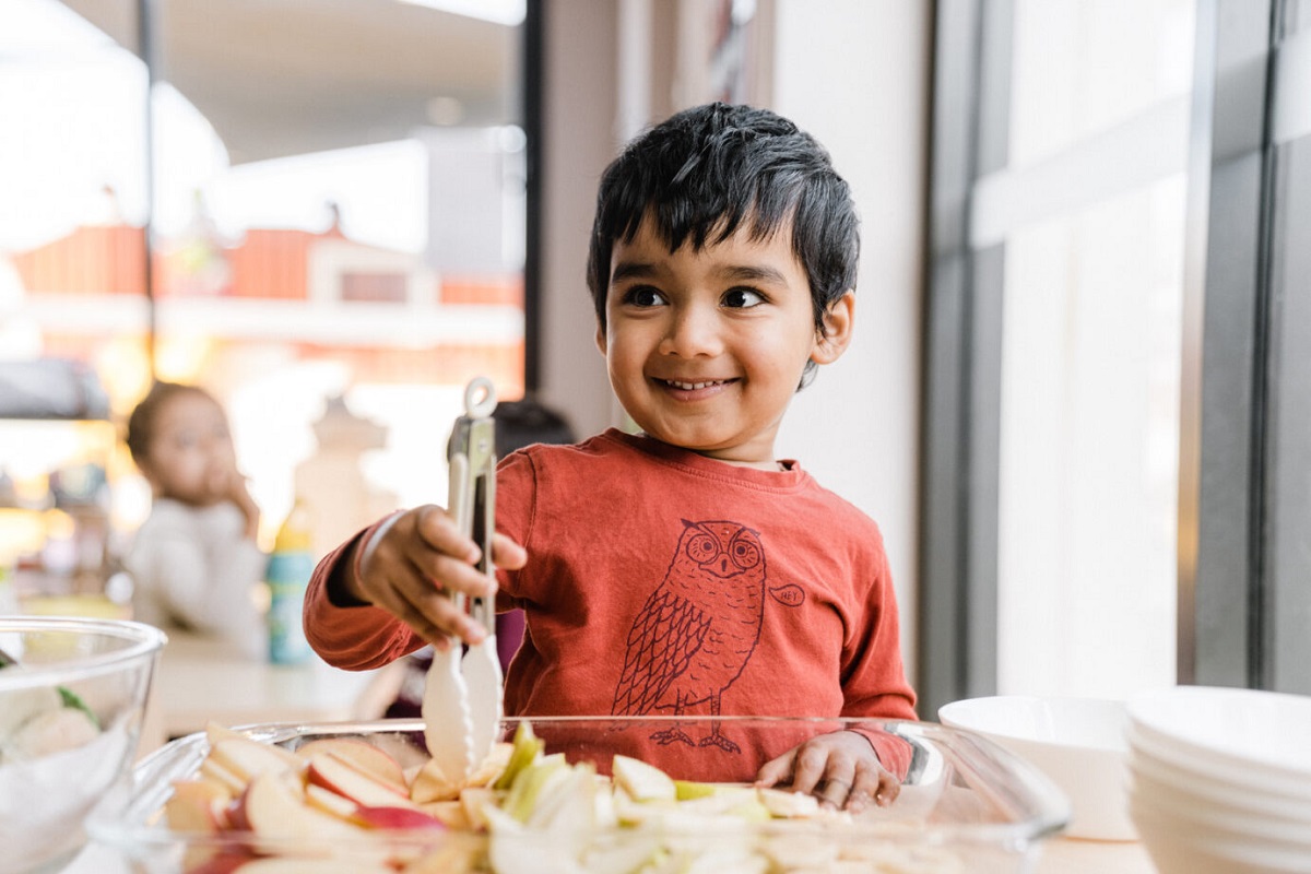
[[[320,552],[443,501],[467,381],[524,388],[524,4],[455,5],[0,3],[0,356],[81,363],[115,425],[208,388],[266,546],[298,494]]]

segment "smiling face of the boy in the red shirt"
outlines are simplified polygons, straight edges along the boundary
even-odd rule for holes
[[[620,404],[646,434],[734,464],[775,469],[773,440],[808,360],[847,347],[855,296],[815,330],[810,283],[783,225],[673,254],[642,221],[610,262],[606,355]]]

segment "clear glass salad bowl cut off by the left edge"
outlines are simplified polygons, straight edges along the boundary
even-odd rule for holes
[[[83,818],[136,753],[163,632],[0,616],[0,874],[59,870]]]

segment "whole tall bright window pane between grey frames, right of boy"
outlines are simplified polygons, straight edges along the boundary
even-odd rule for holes
[[[1122,128],[1114,153],[1152,169],[1080,177],[1129,119],[1183,130],[1193,4],[1019,0],[1013,37],[1011,165],[990,207],[1025,198],[1040,161],[1067,200],[1002,233],[998,688],[1117,697],[1176,676],[1186,138],[1162,161]]]

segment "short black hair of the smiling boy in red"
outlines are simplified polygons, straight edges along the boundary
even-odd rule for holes
[[[860,220],[851,190],[813,136],[770,110],[684,110],[635,138],[606,168],[587,254],[602,330],[615,241],[632,240],[648,216],[670,252],[721,242],[743,225],[762,240],[791,219],[818,332],[829,307],[856,287]],[[813,370],[810,362],[806,376]]]

